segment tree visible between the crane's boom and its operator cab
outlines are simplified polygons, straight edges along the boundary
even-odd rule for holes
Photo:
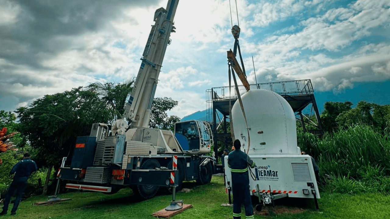
[[[174,101],[172,98],[156,97],[153,99],[153,104],[151,107],[151,116],[149,121],[149,127],[153,129],[163,129],[174,131],[175,123],[180,121],[180,118],[177,116],[169,116],[167,114],[168,110],[171,110],[177,106],[179,102]]]

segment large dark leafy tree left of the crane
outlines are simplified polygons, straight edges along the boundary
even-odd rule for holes
[[[18,108],[16,113],[19,131],[37,149],[35,161],[49,170],[58,167],[62,157],[73,152],[77,136],[89,135],[91,124],[113,119],[106,106],[100,104],[98,95],[82,87],[45,95],[28,108]],[[46,187],[47,183],[48,178]]]

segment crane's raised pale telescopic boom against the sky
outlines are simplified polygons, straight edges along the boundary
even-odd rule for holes
[[[156,23],[149,34],[141,67],[123,115],[131,121],[131,126],[148,127],[165,50],[170,43],[170,33],[175,32],[173,19],[178,3],[179,0],[169,0],[167,9],[157,9],[154,14]]]

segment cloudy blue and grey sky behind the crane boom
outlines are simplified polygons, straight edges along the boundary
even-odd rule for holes
[[[0,109],[132,79],[154,11],[167,2],[0,0]],[[317,92],[337,95],[390,80],[389,0],[237,0],[238,18],[231,4],[232,21],[229,0],[180,0],[156,90],[179,101],[170,114],[204,110],[206,90],[228,85],[231,23],[241,27],[250,83],[252,56],[258,83],[311,79]]]

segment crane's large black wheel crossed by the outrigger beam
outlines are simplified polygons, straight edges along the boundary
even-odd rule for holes
[[[140,169],[154,170],[155,168],[160,168],[160,163],[156,159],[147,159]],[[160,186],[157,185],[136,185],[133,192],[142,199],[149,199],[156,195],[159,188]]]

